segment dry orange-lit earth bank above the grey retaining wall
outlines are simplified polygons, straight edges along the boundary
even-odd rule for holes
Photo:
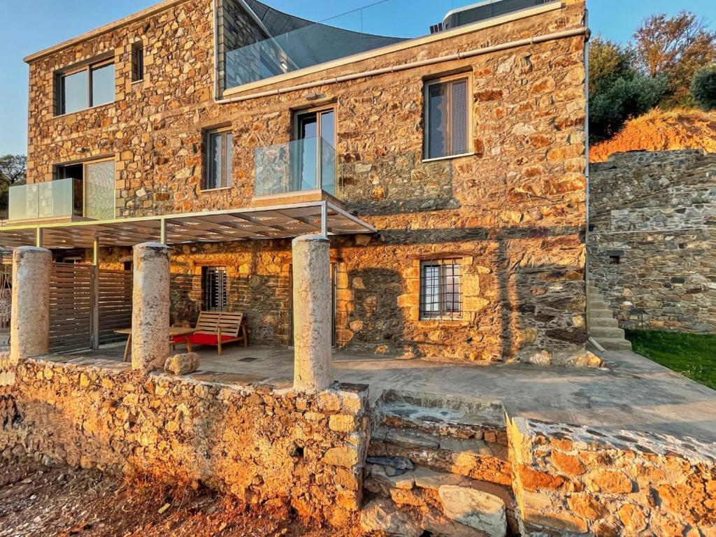
[[[589,148],[589,160],[604,162],[612,153],[632,150],[704,149],[716,153],[716,112],[652,110],[629,120],[611,140]]]

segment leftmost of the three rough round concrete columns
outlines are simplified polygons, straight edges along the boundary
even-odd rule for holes
[[[47,248],[21,246],[12,253],[12,362],[48,352],[51,269],[52,253]]]

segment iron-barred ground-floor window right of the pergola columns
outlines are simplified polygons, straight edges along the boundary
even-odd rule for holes
[[[460,319],[462,313],[459,260],[420,263],[420,319]]]

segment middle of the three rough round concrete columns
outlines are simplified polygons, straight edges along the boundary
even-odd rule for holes
[[[169,248],[162,243],[134,247],[132,369],[161,369],[169,356]]]

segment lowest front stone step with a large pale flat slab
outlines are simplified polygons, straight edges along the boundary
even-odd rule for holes
[[[370,459],[369,459],[370,460]],[[417,525],[431,535],[504,536],[518,533],[515,500],[508,486],[416,466],[390,476],[382,465],[367,463],[364,490],[390,498],[397,508],[422,516]]]

